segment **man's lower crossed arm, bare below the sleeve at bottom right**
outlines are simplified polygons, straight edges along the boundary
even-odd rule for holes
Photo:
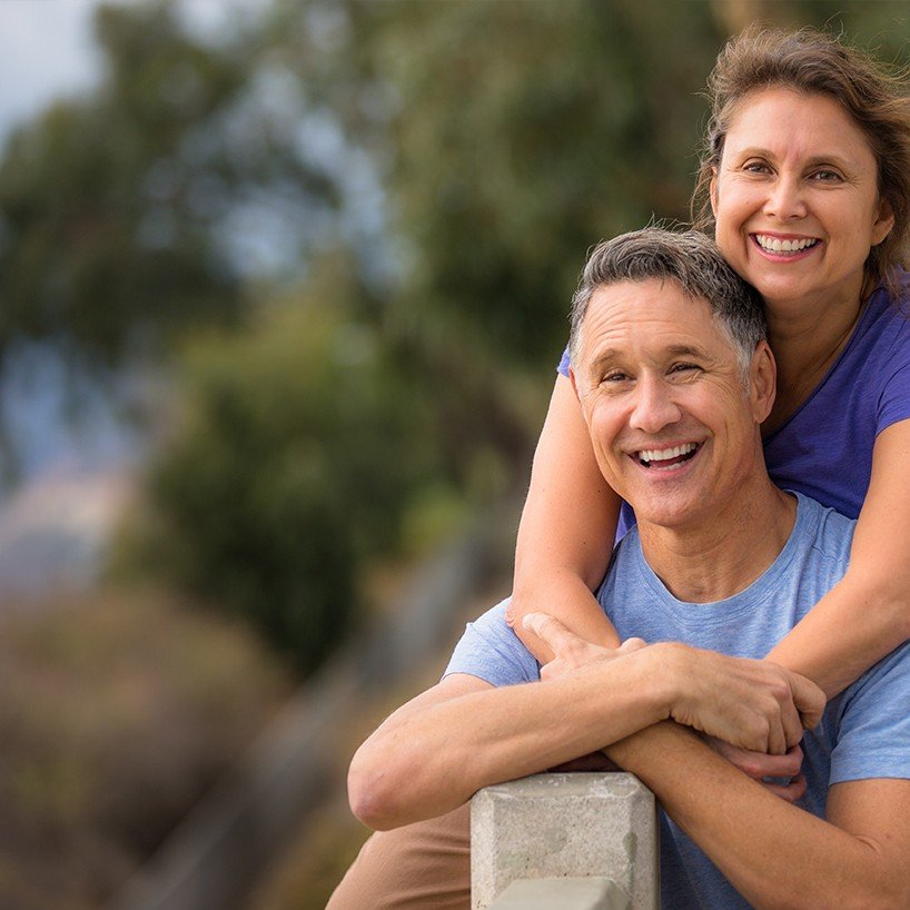
[[[605,751],[651,788],[758,910],[910,907],[910,781],[834,784],[823,821],[772,795],[676,724]]]

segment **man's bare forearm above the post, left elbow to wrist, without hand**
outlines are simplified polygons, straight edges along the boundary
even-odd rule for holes
[[[543,771],[665,716],[635,654],[557,680],[493,689],[448,677],[396,711],[348,774],[355,814],[387,829],[454,809],[482,787]],[[461,688],[459,688],[461,686]]]

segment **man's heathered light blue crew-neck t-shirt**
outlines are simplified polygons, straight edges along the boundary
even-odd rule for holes
[[[637,528],[617,545],[597,599],[623,639],[680,641],[763,657],[842,577],[854,523],[797,494],[793,531],[769,568],[745,591],[716,603],[677,601],[644,560]],[[621,592],[621,593],[617,593]],[[492,685],[535,682],[540,665],[505,623],[499,604],[469,623],[445,675],[469,673]],[[801,805],[824,817],[828,788],[870,778],[910,778],[910,644],[829,702],[805,734]],[[744,910],[749,904],[704,853],[661,813],[661,889],[665,910]]]

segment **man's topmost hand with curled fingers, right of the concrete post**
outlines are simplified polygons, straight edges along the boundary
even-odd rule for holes
[[[654,645],[672,686],[670,718],[753,752],[783,755],[824,711],[811,680],[769,661],[681,644]]]

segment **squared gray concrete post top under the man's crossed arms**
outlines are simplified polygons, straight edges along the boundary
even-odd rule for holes
[[[472,800],[473,910],[516,880],[591,877],[613,881],[631,910],[657,910],[659,860],[654,795],[632,774],[535,774]]]

